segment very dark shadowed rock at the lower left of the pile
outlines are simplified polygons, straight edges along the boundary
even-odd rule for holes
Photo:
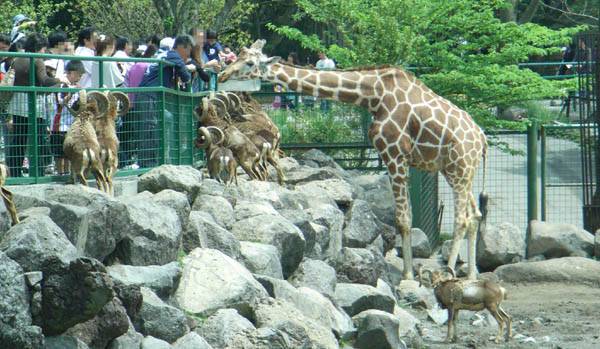
[[[42,312],[34,320],[45,335],[61,334],[94,318],[114,297],[113,282],[95,259],[81,257],[63,264],[56,258],[42,271]]]

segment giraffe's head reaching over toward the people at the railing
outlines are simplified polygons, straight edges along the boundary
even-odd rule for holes
[[[225,82],[229,79],[256,79],[268,74],[267,68],[279,62],[281,57],[267,57],[262,53],[265,42],[265,40],[256,40],[250,48],[244,47],[235,62],[219,74],[219,82]]]

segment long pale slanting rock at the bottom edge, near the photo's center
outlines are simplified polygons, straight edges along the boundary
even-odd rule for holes
[[[329,328],[310,321],[284,300],[264,298],[253,307],[256,327],[269,327],[288,335],[290,348],[339,348]]]

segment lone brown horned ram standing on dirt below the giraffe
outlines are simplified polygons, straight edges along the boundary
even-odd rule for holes
[[[419,286],[423,281],[423,277],[426,274],[429,275],[429,282],[431,287],[433,287],[435,298],[442,308],[448,309],[448,334],[446,335],[446,343],[450,341],[451,334],[453,334],[452,340],[456,341],[456,318],[458,317],[458,311],[461,309],[472,311],[489,310],[498,322],[498,335],[494,342],[500,343],[504,330],[504,322],[507,323],[508,327],[506,340],[510,340],[510,316],[500,306],[500,303],[506,299],[506,289],[492,281],[459,280],[456,279],[454,269],[450,267],[445,267],[445,269],[450,274],[449,278],[445,278],[444,273],[440,270],[431,271],[419,268]],[[452,331],[452,328],[454,328],[454,331]]]

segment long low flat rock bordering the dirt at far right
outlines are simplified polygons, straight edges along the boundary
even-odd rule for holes
[[[563,257],[503,265],[494,271],[504,282],[566,282],[600,285],[600,262]]]

